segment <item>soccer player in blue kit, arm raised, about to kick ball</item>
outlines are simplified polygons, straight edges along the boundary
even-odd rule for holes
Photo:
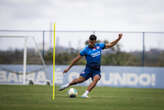
[[[92,82],[90,83],[90,85],[88,86],[84,94],[81,96],[83,98],[87,98],[88,93],[91,92],[91,90],[96,86],[97,82],[101,78],[101,75],[100,75],[101,50],[113,47],[122,38],[122,36],[123,34],[120,33],[116,40],[114,40],[111,43],[105,44],[105,43],[96,43],[97,37],[94,34],[90,35],[89,44],[83,50],[80,51],[80,54],[76,58],[73,59],[71,64],[64,70],[63,73],[67,73],[71,69],[71,67],[77,61],[79,61],[83,56],[85,56],[87,60],[87,64],[84,71],[80,74],[79,78],[74,79],[70,83],[62,85],[59,88],[59,91],[62,91],[70,87],[71,85],[82,83],[88,80],[89,78],[92,78]]]

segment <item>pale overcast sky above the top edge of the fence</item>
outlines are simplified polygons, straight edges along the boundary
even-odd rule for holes
[[[0,0],[0,29],[164,31],[164,0]]]

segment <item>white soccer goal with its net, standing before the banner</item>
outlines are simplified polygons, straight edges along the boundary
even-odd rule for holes
[[[38,37],[0,35],[0,84],[50,84]]]

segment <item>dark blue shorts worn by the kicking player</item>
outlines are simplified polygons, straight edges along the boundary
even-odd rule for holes
[[[86,80],[89,78],[92,78],[93,80],[94,76],[96,75],[99,75],[101,78],[100,72],[100,70],[94,70],[89,67],[86,67],[85,70],[80,74],[80,76],[84,77]]]

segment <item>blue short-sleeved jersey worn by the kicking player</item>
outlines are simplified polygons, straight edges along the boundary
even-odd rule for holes
[[[87,65],[101,64],[101,50],[105,48],[105,43],[96,43],[94,48],[88,47],[88,45],[80,51],[81,56],[85,56]]]

